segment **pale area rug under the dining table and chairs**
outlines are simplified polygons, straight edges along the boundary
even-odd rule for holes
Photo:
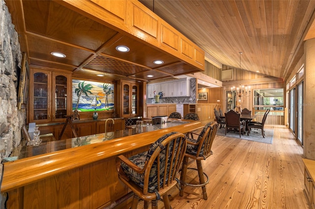
[[[217,131],[217,135],[221,135],[221,136],[228,136],[228,137],[233,137],[233,138],[238,138],[238,139],[246,139],[246,140],[250,140],[250,141],[257,141],[257,142],[262,142],[262,143],[267,143],[267,144],[272,144],[272,140],[274,137],[274,130],[273,129],[265,129],[265,138],[262,137],[261,131],[260,130],[255,130],[252,129],[250,135],[247,135],[247,131],[244,135],[241,135],[240,138],[240,134],[239,132],[233,132],[233,131],[229,131],[226,133],[225,135],[225,129],[218,129]]]

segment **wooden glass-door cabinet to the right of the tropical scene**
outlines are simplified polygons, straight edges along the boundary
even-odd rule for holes
[[[118,89],[118,114],[121,117],[139,115],[139,84],[133,81],[120,80]]]

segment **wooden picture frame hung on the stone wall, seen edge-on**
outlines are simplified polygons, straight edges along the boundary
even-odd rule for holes
[[[25,109],[29,99],[29,85],[30,85],[30,69],[27,61],[26,52],[22,54],[22,63],[20,77],[18,79],[18,109]]]

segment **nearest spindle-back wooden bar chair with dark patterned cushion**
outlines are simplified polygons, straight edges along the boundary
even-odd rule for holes
[[[178,183],[179,169],[186,152],[187,140],[183,133],[170,132],[154,142],[147,152],[132,157],[116,157],[119,179],[134,193],[131,209],[136,209],[139,198],[145,208],[163,197],[165,209],[170,209],[168,191]]]

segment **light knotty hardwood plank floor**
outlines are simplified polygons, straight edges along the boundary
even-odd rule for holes
[[[202,199],[200,187],[186,186],[183,197],[176,187],[169,196],[172,208],[310,209],[303,192],[303,148],[285,126],[265,127],[274,129],[272,144],[217,135],[214,154],[202,161],[210,179],[208,200]],[[195,161],[189,167],[195,168]],[[188,170],[188,176],[191,183],[198,182],[196,171]],[[158,208],[164,208],[162,201]]]

